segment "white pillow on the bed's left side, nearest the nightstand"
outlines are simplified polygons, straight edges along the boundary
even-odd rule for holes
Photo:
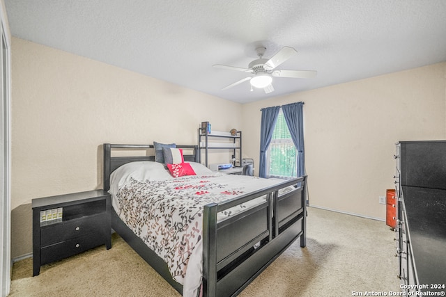
[[[109,193],[116,195],[121,186],[130,182],[130,177],[140,181],[173,179],[162,163],[152,161],[130,162],[112,172]]]

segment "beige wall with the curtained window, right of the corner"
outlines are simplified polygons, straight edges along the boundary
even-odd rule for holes
[[[259,164],[260,109],[305,102],[310,204],[385,218],[397,141],[446,139],[446,63],[243,105],[244,154]]]

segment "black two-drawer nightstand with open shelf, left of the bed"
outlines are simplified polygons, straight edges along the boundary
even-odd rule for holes
[[[103,190],[33,199],[33,276],[59,259],[112,248],[110,203]]]

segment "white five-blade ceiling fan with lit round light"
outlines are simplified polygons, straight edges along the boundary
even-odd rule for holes
[[[272,77],[291,77],[294,79],[307,79],[316,77],[317,72],[313,70],[275,70],[277,66],[284,63],[295,54],[298,54],[298,51],[296,51],[292,47],[283,47],[270,59],[263,58],[263,54],[265,54],[265,51],[266,47],[257,47],[256,53],[259,58],[249,63],[247,68],[220,64],[213,65],[213,67],[217,68],[254,74],[254,76],[245,77],[244,79],[240,79],[240,81],[231,83],[229,86],[222,88],[222,90],[227,90],[229,88],[232,88],[233,86],[237,86],[240,83],[249,81],[251,83],[251,90],[253,90],[252,87],[263,88],[265,93],[268,94],[274,91],[274,88],[272,87]]]

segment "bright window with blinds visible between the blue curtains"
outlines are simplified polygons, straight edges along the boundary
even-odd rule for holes
[[[298,175],[298,151],[295,149],[282,111],[277,117],[266,162],[269,177],[290,179]]]

